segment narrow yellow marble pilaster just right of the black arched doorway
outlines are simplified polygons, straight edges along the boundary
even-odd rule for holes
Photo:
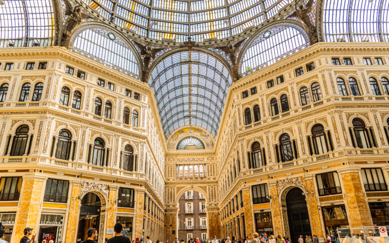
[[[314,186],[314,181],[311,178],[308,179],[308,176],[306,177],[307,180],[305,181],[305,185],[307,188],[307,191],[309,191],[308,194],[308,210],[310,215],[310,222],[311,222],[311,230],[312,234],[315,234],[318,236],[318,238],[323,238],[323,231],[321,230],[321,221],[320,221],[320,215],[318,211],[318,203],[316,201],[316,191]],[[314,192],[314,194],[311,194],[311,191]]]

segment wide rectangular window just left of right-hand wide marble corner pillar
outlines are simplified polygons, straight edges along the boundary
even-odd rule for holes
[[[339,176],[336,172],[317,174],[319,196],[342,193]]]

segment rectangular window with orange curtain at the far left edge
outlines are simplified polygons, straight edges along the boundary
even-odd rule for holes
[[[18,201],[22,177],[2,177],[0,179],[0,201]]]

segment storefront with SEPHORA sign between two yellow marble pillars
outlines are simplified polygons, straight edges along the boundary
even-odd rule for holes
[[[61,242],[62,226],[64,215],[57,213],[44,213],[42,212],[39,222],[38,242],[46,240],[49,242],[53,240],[54,243]]]

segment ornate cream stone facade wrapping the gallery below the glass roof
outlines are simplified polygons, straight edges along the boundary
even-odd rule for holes
[[[61,240],[76,242],[81,199],[88,192],[98,195],[102,202],[99,243],[112,236],[106,229],[124,215],[133,217],[132,239],[150,235],[153,242],[164,238],[173,242],[178,198],[191,190],[199,191],[207,202],[209,237],[251,237],[256,231],[256,213],[260,212],[271,212],[275,235],[290,236],[287,200],[293,188],[306,192],[310,229],[320,241],[327,233],[322,212],[325,207],[344,205],[350,227],[372,226],[369,202],[389,202],[389,96],[381,83],[382,77],[389,79],[388,48],[383,43],[315,44],[233,83],[217,138],[194,126],[177,129],[166,140],[153,90],[147,84],[63,48],[1,50],[0,86],[8,83],[9,88],[0,108],[0,176],[22,177],[20,200],[0,202],[0,213],[16,212],[11,242],[19,241],[21,230],[27,226],[37,231],[41,215],[49,213],[63,215]],[[364,64],[363,58],[378,57],[383,65]],[[332,58],[338,58],[341,65],[333,65]],[[344,65],[344,58],[350,58],[353,65]],[[48,62],[48,66],[43,70],[26,70],[29,62],[35,62],[35,67],[39,62]],[[307,72],[306,65],[312,62],[316,68]],[[14,63],[14,69],[5,71],[5,63]],[[77,71],[74,75],[66,73],[66,66],[85,72],[85,79],[77,78]],[[301,67],[304,73],[296,77],[296,69]],[[283,83],[267,87],[268,81],[281,75]],[[97,85],[98,78],[106,81],[105,87]],[[360,95],[341,96],[337,78],[345,81],[348,94],[352,93],[349,80],[354,78]],[[370,78],[377,81],[381,95],[373,95]],[[32,102],[35,84],[39,82],[44,84],[42,97],[39,102]],[[113,90],[106,87],[108,82],[114,84]],[[25,83],[31,84],[28,101],[18,102]],[[321,90],[321,99],[316,102],[312,102],[314,83]],[[63,87],[70,89],[70,101],[75,91],[82,94],[79,110],[73,109],[71,102],[67,106],[60,104]],[[250,91],[253,87],[257,89],[255,94]],[[302,87],[307,87],[310,104],[302,105]],[[132,97],[125,96],[125,89],[132,91]],[[242,92],[246,90],[249,96],[243,99]],[[134,92],[140,94],[140,100],[134,99]],[[288,111],[281,112],[284,94]],[[105,103],[111,102],[112,119],[95,115],[97,98],[103,102],[103,112]],[[278,101],[278,115],[272,112],[273,98]],[[245,110],[250,109],[249,116],[255,121],[255,105],[259,106],[261,119],[247,124]],[[124,107],[130,114],[138,112],[136,126],[124,124]],[[363,121],[369,148],[358,147],[354,119]],[[317,124],[325,131],[324,140],[314,140],[317,136],[312,129]],[[10,156],[7,144],[12,144],[20,125],[28,125],[27,144],[31,143],[31,147],[23,156]],[[62,129],[71,132],[74,155],[70,158],[74,159],[60,160],[51,152],[55,151]],[[293,144],[286,162],[280,160],[280,138],[284,134]],[[206,149],[176,150],[177,142],[186,136],[202,140]],[[105,143],[104,166],[88,163],[89,147],[96,138]],[[311,153],[311,147],[321,141],[328,147]],[[252,169],[255,151],[251,148],[255,142],[260,144],[259,153],[265,159],[261,157],[259,162],[263,164]],[[133,171],[121,166],[127,144],[134,150]],[[203,166],[202,175],[177,174],[179,166],[195,165]],[[361,171],[371,168],[382,170],[386,190],[365,191]],[[341,192],[319,196],[317,174],[330,172],[338,174]],[[46,182],[53,178],[70,182],[66,203],[44,200]],[[271,199],[254,204],[253,186],[259,184],[265,184]],[[134,189],[134,207],[118,207],[119,188]],[[232,201],[234,209],[230,213],[227,207]],[[148,212],[149,202],[156,208],[158,219]]]

